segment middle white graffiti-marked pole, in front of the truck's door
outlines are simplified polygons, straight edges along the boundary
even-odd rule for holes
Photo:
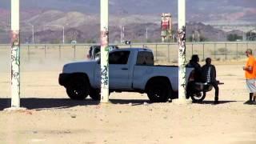
[[[101,0],[101,103],[109,102],[109,0]]]

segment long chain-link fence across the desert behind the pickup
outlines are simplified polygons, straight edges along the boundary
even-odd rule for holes
[[[87,59],[90,46],[95,44],[30,44],[21,45],[21,66],[28,69],[62,67],[70,61]],[[177,63],[177,43],[132,43],[131,45],[115,44],[120,48],[143,47],[153,51],[157,63]],[[198,54],[201,60],[207,57],[214,60],[238,60],[246,58],[246,49],[256,54],[256,42],[187,42],[186,60],[192,54]],[[9,70],[10,45],[0,45],[0,70]]]

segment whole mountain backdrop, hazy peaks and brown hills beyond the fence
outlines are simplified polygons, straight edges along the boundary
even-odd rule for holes
[[[78,38],[80,42],[91,40],[98,42],[99,0],[21,0],[20,5],[23,42],[30,41],[32,37],[31,25],[34,26],[38,42],[50,42],[49,40],[54,38],[60,41],[62,27],[65,27],[66,38]],[[125,26],[127,39],[142,41],[145,39],[146,28],[150,38],[159,39],[163,12],[171,13],[173,22],[177,22],[178,0],[109,0],[109,5],[112,42],[118,41],[120,26]],[[188,35],[196,29],[205,33],[206,37],[211,37],[208,38],[211,41],[223,40],[226,33],[209,25],[255,26],[255,7],[255,0],[186,0]],[[8,30],[10,30],[10,0],[1,0],[0,42],[8,42],[6,38]],[[208,33],[216,34],[215,38]],[[223,38],[219,35],[223,35]]]

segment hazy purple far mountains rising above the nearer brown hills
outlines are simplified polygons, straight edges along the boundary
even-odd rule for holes
[[[99,14],[100,0],[21,0],[21,10],[61,10]],[[109,0],[110,14],[162,14],[177,18],[178,0]],[[186,0],[189,21],[256,21],[255,0]],[[10,0],[1,0],[0,9],[10,9]]]

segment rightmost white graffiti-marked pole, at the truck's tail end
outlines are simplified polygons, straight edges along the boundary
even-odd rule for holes
[[[186,101],[186,0],[178,0],[178,102]]]

